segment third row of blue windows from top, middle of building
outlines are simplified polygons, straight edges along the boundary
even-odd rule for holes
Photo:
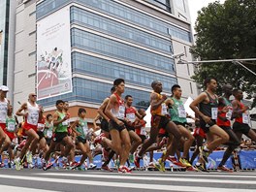
[[[72,47],[95,51],[166,73],[174,73],[175,71],[174,59],[115,42],[77,28],[73,28],[71,34]]]

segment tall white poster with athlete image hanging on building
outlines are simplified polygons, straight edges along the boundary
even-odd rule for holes
[[[72,91],[70,8],[37,22],[38,99]]]

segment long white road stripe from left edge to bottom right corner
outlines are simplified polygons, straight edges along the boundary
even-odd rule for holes
[[[7,176],[0,175],[2,178],[21,179],[40,182],[53,182],[53,183],[68,183],[68,184],[81,184],[81,185],[95,185],[95,186],[109,186],[121,188],[135,188],[135,189],[154,189],[166,191],[184,191],[184,192],[240,192],[241,189],[233,188],[217,188],[217,187],[200,187],[200,186],[178,186],[178,185],[164,185],[164,184],[143,184],[143,183],[130,183],[130,182],[111,182],[111,181],[91,181],[91,180],[78,180],[78,179],[63,179],[63,178],[48,178],[36,176]],[[208,180],[209,181],[209,180]],[[253,189],[242,189],[243,192],[254,192]]]

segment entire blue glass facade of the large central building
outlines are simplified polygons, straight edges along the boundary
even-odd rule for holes
[[[52,106],[57,99],[101,103],[110,95],[112,84],[108,82],[117,78],[137,87],[125,90],[125,95],[134,97],[137,108],[149,106],[153,80],[161,80],[164,91],[170,92],[176,83],[175,61],[169,56],[173,53],[170,34],[190,42],[188,31],[112,0],[45,0],[37,5],[37,19],[71,2],[80,4],[80,8],[76,5],[70,8],[72,72],[84,75],[84,79],[73,78],[72,93],[41,100],[40,104]],[[145,30],[138,29],[140,27]],[[152,35],[154,33],[160,36]],[[106,80],[108,82],[104,82]]]

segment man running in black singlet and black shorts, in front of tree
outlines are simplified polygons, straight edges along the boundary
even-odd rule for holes
[[[208,78],[204,81],[207,90],[201,93],[191,104],[190,108],[200,118],[200,127],[207,134],[208,145],[205,145],[202,150],[203,159],[196,164],[196,167],[205,172],[206,169],[202,166],[203,161],[208,162],[208,155],[220,144],[225,144],[229,141],[229,135],[216,125],[218,116],[218,97],[215,95],[217,89],[217,80]],[[218,136],[217,138],[214,138]]]

